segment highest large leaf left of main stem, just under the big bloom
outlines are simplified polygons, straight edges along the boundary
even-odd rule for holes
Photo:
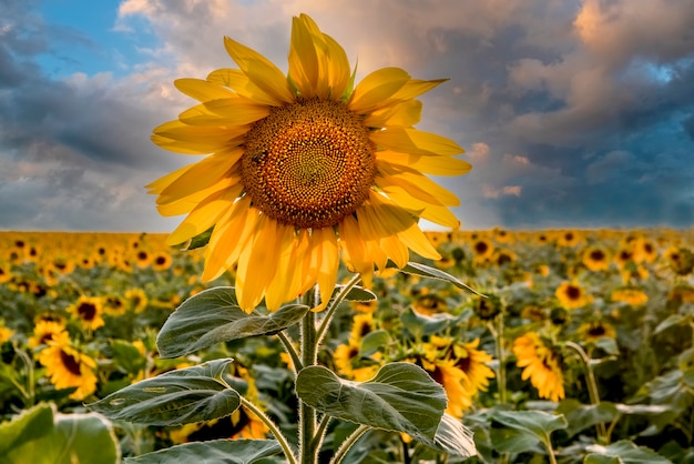
[[[183,302],[156,337],[162,357],[183,356],[221,342],[273,335],[299,322],[308,306],[289,304],[268,315],[245,313],[233,286],[205,290]]]

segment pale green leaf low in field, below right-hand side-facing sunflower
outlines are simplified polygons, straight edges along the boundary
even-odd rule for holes
[[[494,447],[501,453],[532,451],[538,443],[547,445],[553,431],[569,425],[563,415],[542,411],[494,410],[490,417],[501,425],[492,423],[490,433]]]

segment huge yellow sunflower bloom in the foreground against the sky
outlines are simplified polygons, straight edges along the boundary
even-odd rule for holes
[[[330,295],[340,252],[367,284],[375,266],[390,259],[401,268],[410,250],[440,258],[418,220],[457,228],[448,206],[460,202],[423,173],[463,174],[470,164],[452,158],[463,152],[456,142],[414,125],[415,98],[445,80],[384,68],[353,88],[345,51],[306,14],[293,21],[288,75],[229,38],[224,44],[239,69],[176,80],[201,104],[152,138],[212,154],[147,185],[160,213],[187,214],[170,245],[213,228],[205,281],[237,264],[241,307],[265,297],[276,310],[316,284]]]

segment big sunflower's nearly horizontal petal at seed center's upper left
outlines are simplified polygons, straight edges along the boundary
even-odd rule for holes
[[[192,125],[246,125],[269,114],[269,107],[234,97],[213,100],[185,110],[178,119]]]

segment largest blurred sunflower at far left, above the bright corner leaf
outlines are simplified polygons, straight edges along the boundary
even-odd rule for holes
[[[96,390],[96,363],[79,352],[70,343],[68,332],[62,332],[48,342],[41,351],[39,362],[47,367],[47,375],[58,390],[78,387],[70,397],[84,400]]]

